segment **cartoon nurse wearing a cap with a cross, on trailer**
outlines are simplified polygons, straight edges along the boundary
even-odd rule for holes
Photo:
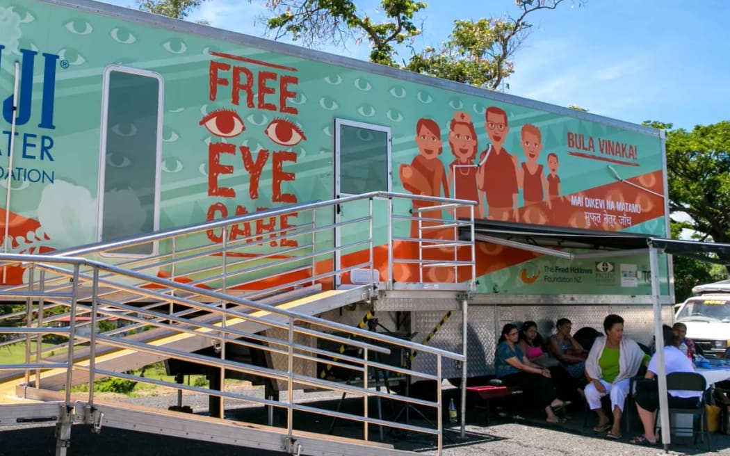
[[[449,188],[453,190],[454,198],[479,201],[477,190],[477,132],[472,117],[466,112],[456,111],[449,125],[449,147],[451,154],[456,158],[449,165]],[[474,217],[483,218],[481,205],[475,207]],[[456,209],[457,218],[470,216],[468,207]]]

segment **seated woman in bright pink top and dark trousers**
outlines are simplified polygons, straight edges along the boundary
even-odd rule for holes
[[[537,332],[537,323],[524,322],[520,330],[520,348],[531,363],[539,367],[548,368],[550,379],[558,393],[558,398],[569,401],[576,395],[580,397],[582,386],[568,372],[558,364],[555,358],[542,351],[542,336]]]

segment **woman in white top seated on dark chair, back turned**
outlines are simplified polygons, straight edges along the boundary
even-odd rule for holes
[[[669,326],[664,325],[664,365],[666,366],[666,374],[672,372],[694,372],[692,361],[677,348],[679,338],[677,333]],[[649,367],[646,371],[645,379],[653,380],[656,377],[657,359],[656,353],[649,361]],[[643,385],[643,386],[639,386]],[[678,409],[693,409],[697,406],[698,401],[702,398],[701,391],[667,391],[670,407]],[[656,382],[650,384],[638,384],[637,392],[634,396],[637,403],[637,411],[644,426],[644,434],[631,440],[632,444],[656,444],[658,436],[654,433],[654,423],[656,422],[656,409],[659,406],[659,391]]]

